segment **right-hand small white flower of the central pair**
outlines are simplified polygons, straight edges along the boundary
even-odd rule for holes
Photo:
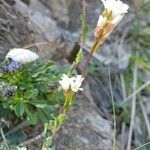
[[[71,78],[71,90],[77,92],[78,90],[83,91],[83,88],[80,88],[84,78],[81,75]]]

